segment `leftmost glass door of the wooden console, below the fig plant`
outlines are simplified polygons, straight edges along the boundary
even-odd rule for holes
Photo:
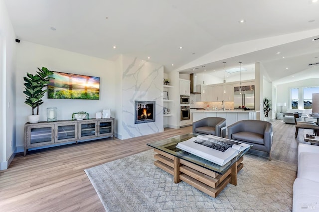
[[[54,125],[27,126],[26,142],[28,147],[37,147],[54,143]]]

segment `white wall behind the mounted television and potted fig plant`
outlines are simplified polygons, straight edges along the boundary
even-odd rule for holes
[[[115,64],[112,61],[90,57],[74,52],[69,52],[52,47],[42,46],[21,40],[17,44],[16,58],[16,145],[18,152],[23,151],[24,123],[27,122],[27,115],[31,114],[31,107],[24,103],[23,77],[26,73],[35,74],[37,67],[46,67],[51,71],[82,74],[100,77],[100,100],[62,100],[47,99],[43,97],[44,104],[39,107],[40,121],[46,121],[46,107],[57,107],[57,119],[71,119],[72,113],[86,111],[90,118],[95,117],[96,112],[102,109],[111,109],[111,117],[116,117],[115,107],[118,100],[118,93],[115,85],[118,79],[115,77]]]

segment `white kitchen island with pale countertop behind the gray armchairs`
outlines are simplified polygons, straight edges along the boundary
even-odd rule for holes
[[[206,117],[222,117],[226,118],[227,126],[236,123],[240,120],[256,119],[257,110],[241,110],[241,109],[225,109],[225,110],[214,110],[214,109],[201,109],[191,110],[193,122]]]

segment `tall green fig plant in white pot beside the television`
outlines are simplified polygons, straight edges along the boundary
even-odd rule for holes
[[[28,115],[29,123],[37,123],[39,121],[39,106],[43,104],[41,100],[47,89],[44,89],[51,77],[53,72],[49,71],[47,68],[42,67],[42,69],[37,68],[39,71],[35,75],[26,73],[26,77],[23,77],[25,91],[23,93],[26,96],[25,104],[32,108],[32,115]],[[36,108],[36,114],[34,109]]]

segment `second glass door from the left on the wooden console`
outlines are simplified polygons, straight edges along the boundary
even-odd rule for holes
[[[55,143],[78,139],[78,123],[59,123],[55,125]]]

